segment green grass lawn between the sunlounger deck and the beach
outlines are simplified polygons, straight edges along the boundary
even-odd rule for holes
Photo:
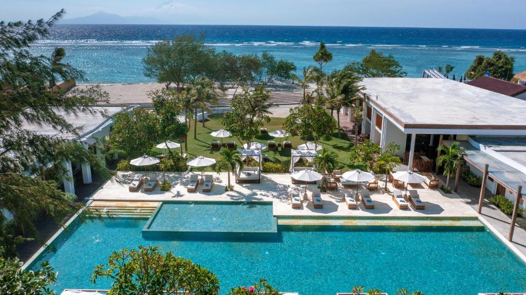
[[[198,122],[197,139],[194,139],[194,125],[192,125],[190,132],[188,133],[188,152],[196,155],[202,155],[218,159],[219,152],[211,151],[210,143],[214,140],[221,141],[221,139],[210,136],[210,133],[218,129],[225,129],[225,127],[221,124],[221,120],[222,114],[212,114],[209,115],[208,121],[205,122],[205,127],[203,127],[203,124],[201,122]],[[271,121],[265,124],[265,128],[267,128],[269,132],[278,130],[281,128],[281,124],[284,120],[285,118],[271,118]],[[276,141],[276,143],[279,143],[279,138],[275,139],[270,135],[258,135],[254,139],[254,141],[265,144],[267,144],[269,140],[274,140]],[[287,139],[281,139],[282,142],[284,140]],[[299,144],[304,143],[299,138],[299,136],[290,136],[288,140],[292,142],[293,148],[296,148],[296,146],[298,146]],[[234,136],[232,136],[231,138],[225,138],[223,139],[223,141],[225,143],[228,141],[236,141],[238,147],[241,146],[239,141],[237,141],[237,139]],[[347,138],[347,135],[345,133],[341,134],[341,139],[339,139],[338,134],[335,133],[332,134],[332,136],[327,136],[327,138],[320,140],[319,143],[323,146],[323,148],[335,151],[338,154],[338,168],[355,168],[349,165],[349,150],[353,146],[353,143]],[[290,163],[290,150],[282,150],[281,152],[264,150],[263,153],[266,154],[272,162],[284,163],[286,165],[289,165]],[[211,171],[211,168],[208,167],[207,170]]]

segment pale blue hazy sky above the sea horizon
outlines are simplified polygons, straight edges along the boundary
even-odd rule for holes
[[[167,24],[526,29],[525,0],[0,0],[1,20],[100,11]],[[6,17],[8,17],[6,19]]]

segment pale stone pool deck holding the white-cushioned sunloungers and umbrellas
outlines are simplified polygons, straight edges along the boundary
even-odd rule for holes
[[[149,172],[151,175],[152,173]],[[162,175],[162,173],[153,173]],[[375,209],[366,209],[358,204],[358,209],[348,209],[343,201],[343,192],[350,189],[342,188],[337,191],[321,193],[323,208],[315,209],[310,199],[302,202],[301,208],[291,207],[289,191],[291,187],[300,187],[302,192],[305,185],[292,184],[289,174],[264,174],[261,183],[234,184],[234,191],[225,192],[227,183],[226,172],[208,173],[214,176],[214,186],[209,193],[203,193],[201,186],[197,192],[188,193],[186,184],[193,173],[167,173],[166,178],[172,183],[170,191],[160,191],[157,186],[153,192],[129,192],[127,182],[133,177],[133,172],[119,172],[116,178],[105,183],[98,192],[93,195],[95,201],[272,201],[275,216],[305,216],[305,217],[477,217],[477,213],[467,202],[456,194],[443,194],[437,189],[429,189],[426,185],[418,185],[417,189],[426,209],[416,210],[412,206],[409,209],[398,209],[391,199],[391,195],[384,192],[383,182],[380,180],[378,191],[370,191],[371,198],[375,202]],[[162,180],[162,176],[160,177]],[[234,177],[231,177],[234,183]],[[309,184],[308,195],[315,184]],[[410,187],[411,188],[411,187]],[[365,188],[361,188],[365,189]],[[389,183],[388,189],[392,191]]]

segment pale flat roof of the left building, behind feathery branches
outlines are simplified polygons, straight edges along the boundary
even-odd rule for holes
[[[72,124],[74,128],[79,128],[79,134],[83,135],[90,131],[94,131],[97,129],[101,124],[106,122],[108,120],[108,117],[120,112],[123,110],[122,106],[94,106],[92,107],[95,113],[89,113],[89,112],[78,112],[77,114],[73,113],[66,113],[64,109],[57,108],[55,110],[55,113],[60,115],[60,117],[64,118],[68,123]],[[101,114],[101,111],[105,111],[105,114]],[[60,131],[53,128],[52,125],[49,124],[31,124],[27,121],[24,121],[22,123],[22,129],[33,131],[39,134],[43,135],[56,135]],[[75,139],[78,136],[72,133],[64,133],[61,134],[60,137],[62,138],[69,138],[69,139]]]

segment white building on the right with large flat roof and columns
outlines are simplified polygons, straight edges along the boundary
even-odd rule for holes
[[[361,132],[382,149],[390,142],[399,144],[399,155],[413,170],[431,171],[437,145],[456,140],[467,150],[474,173],[485,164],[494,169],[486,182],[491,192],[511,198],[526,179],[526,161],[521,160],[526,101],[449,79],[365,78],[362,83]]]

